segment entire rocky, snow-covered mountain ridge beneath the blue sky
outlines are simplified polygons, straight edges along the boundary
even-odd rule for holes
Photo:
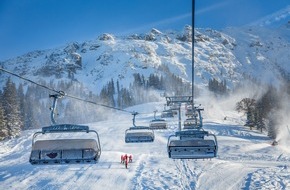
[[[278,28],[248,26],[195,30],[195,80],[207,85],[215,78],[232,88],[246,78],[277,84],[289,79],[289,22]],[[192,29],[114,36],[38,50],[0,62],[0,65],[35,81],[79,81],[96,93],[111,79],[128,87],[135,73],[173,73],[191,81]],[[3,76],[3,73],[1,73]],[[7,75],[5,75],[7,76]],[[3,85],[6,77],[1,77]],[[89,81],[89,82],[88,82]]]

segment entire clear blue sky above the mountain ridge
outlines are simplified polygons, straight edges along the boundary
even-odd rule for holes
[[[289,0],[196,0],[195,25],[241,26],[287,6]],[[83,42],[102,33],[182,30],[192,0],[1,0],[0,61],[33,50]]]

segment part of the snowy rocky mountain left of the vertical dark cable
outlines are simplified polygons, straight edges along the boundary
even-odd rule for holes
[[[1,62],[23,77],[46,81],[76,80],[93,92],[114,79],[128,87],[133,74],[149,77],[168,72],[191,78],[191,28],[183,33],[152,29],[148,34],[115,37],[103,34],[98,39],[71,43],[65,47],[30,52]],[[4,78],[1,78],[3,82]],[[88,82],[89,81],[89,82]]]

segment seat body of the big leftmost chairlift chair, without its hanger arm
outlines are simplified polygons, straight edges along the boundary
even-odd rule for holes
[[[35,164],[74,164],[96,163],[101,155],[99,137],[96,131],[87,126],[59,125],[43,127],[42,132],[33,136],[30,163]],[[64,129],[66,128],[66,129]],[[73,128],[73,129],[72,129]],[[58,131],[59,130],[59,131]],[[61,132],[94,132],[96,139],[48,139],[35,140],[38,134]]]

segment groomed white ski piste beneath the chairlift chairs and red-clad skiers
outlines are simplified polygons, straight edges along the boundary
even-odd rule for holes
[[[136,124],[149,125],[153,111],[162,111],[163,105],[126,110],[143,113]],[[168,129],[155,131],[153,143],[126,144],[132,115],[117,111],[109,120],[88,124],[100,136],[97,164],[31,165],[32,136],[40,129],[0,142],[0,189],[290,189],[289,139],[271,146],[267,135],[243,126],[241,114],[204,108],[204,129],[217,136],[219,146],[211,160],[168,158],[167,139],[178,130],[178,117],[167,119]],[[128,169],[120,163],[123,154],[133,155]]]

